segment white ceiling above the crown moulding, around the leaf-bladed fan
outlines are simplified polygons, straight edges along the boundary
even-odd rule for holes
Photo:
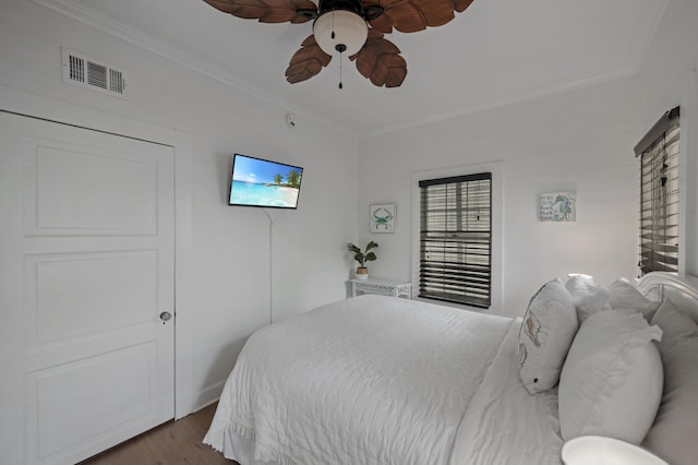
[[[407,60],[375,87],[335,58],[289,84],[312,23],[264,24],[201,0],[35,0],[327,126],[368,136],[634,74],[669,0],[476,0],[455,20],[387,35]],[[105,58],[106,59],[106,58]]]

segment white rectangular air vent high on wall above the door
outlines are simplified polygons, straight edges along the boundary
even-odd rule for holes
[[[125,98],[127,82],[122,71],[82,53],[61,49],[63,82]]]

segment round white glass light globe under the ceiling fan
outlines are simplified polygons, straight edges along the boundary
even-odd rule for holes
[[[333,37],[333,32],[334,37]],[[342,51],[352,56],[366,43],[369,25],[365,20],[351,11],[333,10],[318,16],[313,23],[313,35],[320,48],[327,55]]]

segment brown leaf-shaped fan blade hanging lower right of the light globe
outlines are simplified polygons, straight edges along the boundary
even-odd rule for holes
[[[399,87],[407,76],[407,62],[400,49],[375,29],[369,31],[365,45],[349,59],[356,60],[361,75],[378,87]]]

